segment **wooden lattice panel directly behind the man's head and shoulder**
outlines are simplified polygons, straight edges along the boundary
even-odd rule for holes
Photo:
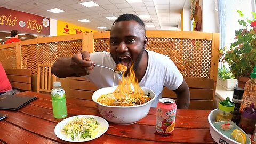
[[[212,41],[202,39],[148,38],[146,49],[168,55],[183,76],[210,77]],[[109,52],[109,39],[94,39],[94,51]]]

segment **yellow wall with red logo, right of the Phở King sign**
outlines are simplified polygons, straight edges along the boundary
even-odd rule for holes
[[[89,28],[77,26],[77,25],[74,25],[72,23],[68,23],[68,22],[65,22],[65,21],[57,20],[57,36],[77,34],[77,33],[85,33],[86,31],[87,32],[97,32],[96,30],[92,30],[92,29],[89,29]]]

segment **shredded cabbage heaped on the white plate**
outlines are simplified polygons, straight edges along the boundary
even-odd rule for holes
[[[79,141],[85,138],[94,138],[99,133],[99,126],[100,123],[92,117],[75,117],[62,130],[68,138],[71,137],[72,140]]]

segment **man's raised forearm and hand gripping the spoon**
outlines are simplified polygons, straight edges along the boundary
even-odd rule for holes
[[[72,58],[60,57],[52,65],[51,72],[60,78],[85,76],[91,73],[94,62],[88,52],[74,54]]]

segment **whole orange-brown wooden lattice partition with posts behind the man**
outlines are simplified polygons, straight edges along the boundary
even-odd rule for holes
[[[71,57],[81,51],[109,51],[109,34],[109,31],[83,33],[0,45],[0,62],[4,68],[31,69],[32,74],[36,75],[40,63],[53,64],[59,57]],[[167,55],[183,76],[213,79],[214,92],[211,101],[214,100],[219,34],[155,30],[146,31],[146,35],[146,49]],[[69,82],[65,80],[65,84],[66,95],[69,95]]]

